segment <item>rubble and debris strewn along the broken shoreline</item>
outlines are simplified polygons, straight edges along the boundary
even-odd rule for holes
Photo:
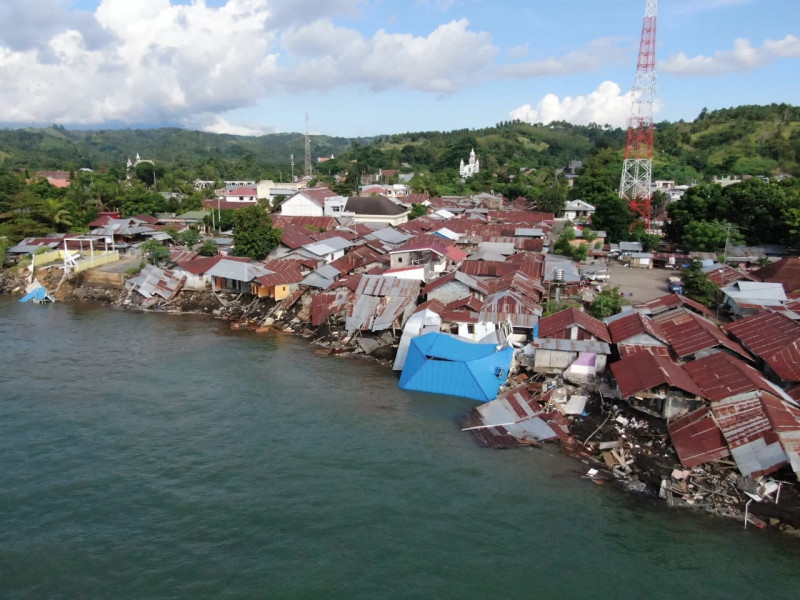
[[[21,273],[4,271],[0,273],[0,294],[17,295],[24,289],[24,276]],[[92,302],[111,308],[134,312],[154,312],[170,314],[203,315],[227,321],[231,329],[250,330],[257,333],[276,331],[294,334],[308,340],[312,346],[319,346],[317,354],[349,356],[376,361],[391,366],[393,351],[399,335],[384,332],[381,335],[367,335],[363,339],[370,343],[354,344],[343,337],[343,331],[327,325],[313,327],[299,318],[299,309],[287,310],[272,315],[274,301],[253,300],[242,303],[241,295],[211,294],[208,292],[182,291],[171,301],[152,307],[143,306],[125,288],[112,286],[82,285],[81,281],[61,286],[57,292],[61,302]],[[264,325],[268,322],[268,325]],[[362,340],[363,342],[363,340]],[[534,380],[524,378],[515,381],[509,377],[509,384],[529,385]],[[505,391],[514,389],[512,385]],[[619,417],[619,419],[618,419]],[[475,423],[474,409],[459,421],[463,428]],[[627,422],[627,423],[626,423]],[[629,426],[630,423],[633,426]],[[624,424],[624,425],[623,425]],[[599,453],[598,441],[603,433],[626,440],[630,449],[626,460],[630,460],[628,477],[615,477],[615,466],[604,461]],[[476,442],[481,444],[480,438]],[[627,493],[649,498],[659,496],[673,507],[700,509],[708,514],[733,518],[740,523],[745,518],[746,497],[736,491],[733,463],[716,465],[719,468],[701,469],[689,476],[683,472],[677,455],[672,449],[666,427],[655,419],[646,419],[642,413],[634,411],[623,403],[614,403],[602,395],[590,393],[590,402],[584,414],[570,424],[570,436],[556,442],[560,451],[582,463],[587,469],[583,477],[596,484],[613,485]],[[514,447],[525,446],[517,443]],[[494,446],[508,448],[509,445]],[[722,461],[724,463],[725,461]],[[708,467],[709,465],[703,465]],[[695,469],[694,471],[697,471]],[[666,485],[666,494],[665,491]],[[706,487],[701,485],[705,483]],[[798,535],[800,533],[800,490],[785,489],[781,504],[768,502],[749,503],[746,509],[750,523],[760,528],[771,529]],[[700,498],[700,499],[698,499]]]

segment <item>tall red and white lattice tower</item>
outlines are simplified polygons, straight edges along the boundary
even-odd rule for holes
[[[628,121],[628,143],[619,183],[619,197],[650,225],[650,182],[653,175],[653,102],[656,96],[656,12],[658,0],[646,0],[639,42],[639,60]]]

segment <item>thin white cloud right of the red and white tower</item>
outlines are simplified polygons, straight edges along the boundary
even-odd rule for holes
[[[800,57],[800,39],[793,35],[787,35],[782,40],[765,40],[760,48],[754,48],[749,40],[739,38],[733,43],[733,50],[715,52],[714,56],[701,54],[692,58],[681,52],[668,57],[656,68],[682,77],[722,75],[752,71],[765,67],[778,58],[795,57]]]

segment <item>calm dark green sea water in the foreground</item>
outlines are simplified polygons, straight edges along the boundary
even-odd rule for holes
[[[800,540],[476,447],[458,398],[186,316],[0,298],[2,598],[797,598]]]

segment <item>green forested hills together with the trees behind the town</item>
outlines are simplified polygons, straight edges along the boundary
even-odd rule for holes
[[[414,192],[432,196],[492,191],[510,199],[524,197],[531,206],[554,213],[563,210],[566,200],[580,198],[597,207],[594,226],[611,239],[644,239],[642,228],[631,227],[635,217],[616,193],[625,139],[624,130],[607,125],[503,122],[485,129],[371,139],[312,136],[311,157],[315,180],[340,194],[354,193],[364,175],[397,170],[413,173]],[[714,249],[723,231],[722,237],[731,241],[800,245],[800,108],[774,104],[703,110],[692,122],[658,123],[655,140],[654,179],[702,184],[716,176],[755,178],[724,191],[693,187],[685,201],[669,207],[672,222],[666,233],[671,240],[689,249]],[[0,131],[0,239],[80,231],[104,209],[134,215],[198,208],[202,196],[193,189],[196,178],[288,181],[291,155],[294,173],[303,171],[304,145],[300,133],[242,137],[59,126]],[[480,172],[462,181],[458,165],[473,149]],[[155,163],[126,174],[126,159],[137,153]],[[318,163],[318,157],[329,160]],[[582,166],[569,174],[578,176],[570,185],[567,169],[573,161]],[[69,187],[57,189],[32,177],[45,169],[69,170]],[[766,181],[779,174],[794,178]],[[165,191],[186,198],[165,200],[157,193]],[[654,215],[663,215],[665,206],[666,198],[656,193]]]

